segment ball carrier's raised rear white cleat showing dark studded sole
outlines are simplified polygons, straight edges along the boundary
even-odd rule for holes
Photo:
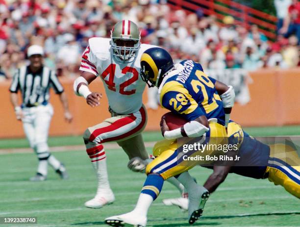
[[[194,195],[192,195],[194,194]],[[208,191],[204,193],[189,193],[189,224],[194,224],[201,216],[205,202],[208,200]]]

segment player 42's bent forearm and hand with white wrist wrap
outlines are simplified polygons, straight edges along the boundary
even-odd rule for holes
[[[87,104],[92,107],[100,105],[100,98],[102,94],[98,92],[91,92],[88,85],[96,79],[92,73],[83,72],[77,79],[74,81],[73,89],[76,95],[83,96],[86,99]]]

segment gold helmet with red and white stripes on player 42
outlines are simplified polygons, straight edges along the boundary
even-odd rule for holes
[[[112,54],[117,62],[130,63],[140,48],[141,32],[138,26],[129,20],[118,22],[110,31]]]

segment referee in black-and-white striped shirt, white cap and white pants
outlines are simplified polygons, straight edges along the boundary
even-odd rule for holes
[[[41,46],[32,45],[27,50],[30,64],[18,69],[10,86],[10,100],[15,108],[17,120],[22,121],[30,147],[37,154],[39,164],[37,174],[31,181],[46,180],[48,163],[63,179],[68,178],[66,168],[49,152],[47,144],[53,108],[49,103],[50,87],[59,95],[65,111],[65,120],[72,121],[64,89],[55,72],[43,66],[44,50]],[[19,105],[18,91],[22,94],[22,105]]]

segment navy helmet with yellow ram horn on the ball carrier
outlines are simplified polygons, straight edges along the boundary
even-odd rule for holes
[[[150,48],[141,56],[140,75],[149,87],[159,87],[164,76],[173,68],[171,55],[162,48]]]

